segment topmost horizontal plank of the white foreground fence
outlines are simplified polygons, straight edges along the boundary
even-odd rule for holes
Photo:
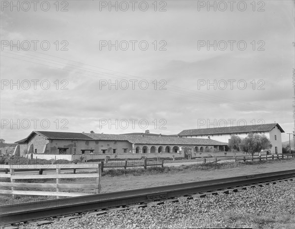
[[[0,165],[1,169],[88,169],[88,168],[97,168],[99,163],[85,163],[85,164],[47,164],[47,165]]]

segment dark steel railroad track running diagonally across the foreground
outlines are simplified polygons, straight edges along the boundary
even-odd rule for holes
[[[288,170],[127,190],[124,192],[2,205],[0,208],[0,226],[98,209],[109,209],[138,203],[142,204],[156,200],[168,200],[191,194],[201,194],[201,196],[206,192],[216,194],[213,192],[216,190],[225,193],[228,193],[229,190],[235,192],[236,187],[252,184],[261,185],[263,182],[294,176],[295,170]]]

